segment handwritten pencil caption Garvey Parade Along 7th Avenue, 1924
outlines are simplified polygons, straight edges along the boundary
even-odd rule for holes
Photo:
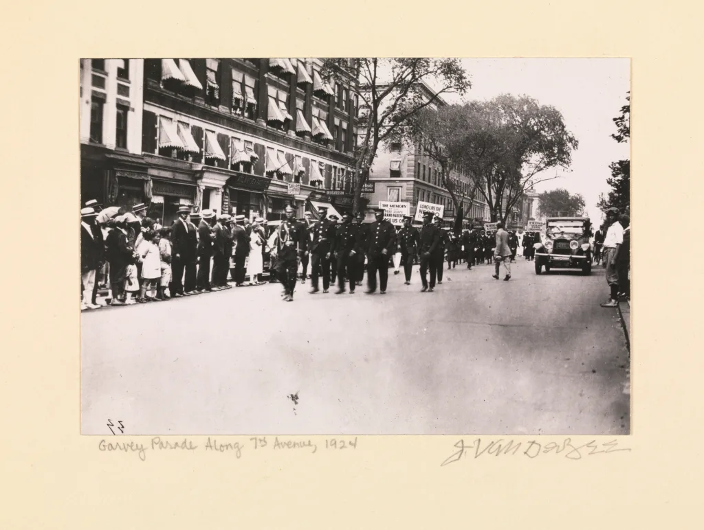
[[[229,453],[235,458],[241,458],[243,451],[250,448],[251,451],[303,451],[306,453],[318,453],[318,448],[323,451],[340,451],[343,449],[356,449],[357,437],[326,438],[322,441],[311,439],[287,439],[284,437],[251,437],[237,441],[218,441],[214,437],[203,440],[204,443],[196,445],[194,440],[184,438],[182,440],[165,440],[161,437],[153,437],[148,443],[141,441],[125,440],[124,437],[113,439],[101,439],[98,443],[98,450],[106,453],[136,453],[139,460],[146,460],[146,453],[149,451],[163,451],[169,453],[182,453],[192,451],[206,451],[212,453]]]

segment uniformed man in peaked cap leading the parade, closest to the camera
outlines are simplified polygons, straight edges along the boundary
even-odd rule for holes
[[[286,207],[286,219],[277,230],[276,246],[272,254],[276,257],[277,276],[284,285],[284,301],[294,301],[298,264],[306,248],[306,230],[302,223],[296,221],[296,210],[291,205]]]

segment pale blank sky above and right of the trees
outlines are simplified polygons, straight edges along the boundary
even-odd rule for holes
[[[622,58],[497,58],[462,59],[470,74],[472,89],[465,96],[445,96],[448,103],[487,100],[502,93],[527,95],[541,105],[552,105],[562,112],[567,130],[579,141],[568,170],[548,170],[546,176],[561,175],[539,183],[539,193],[565,188],[581,193],[586,212],[596,222],[601,211],[596,207],[600,193],[608,193],[609,164],[629,158],[627,143],[617,143],[613,118],[627,103],[630,90],[630,61]]]

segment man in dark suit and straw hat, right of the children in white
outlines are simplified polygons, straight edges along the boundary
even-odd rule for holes
[[[171,230],[171,296],[182,297],[186,292],[191,294],[196,280],[196,227],[189,223],[191,209],[182,206],[178,209],[178,219]],[[186,292],[184,292],[183,276],[186,273]],[[189,282],[189,280],[191,280]],[[190,285],[189,285],[190,284]]]

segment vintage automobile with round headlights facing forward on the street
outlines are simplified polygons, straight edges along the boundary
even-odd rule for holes
[[[549,217],[546,233],[535,243],[535,273],[551,269],[581,269],[591,273],[589,217]]]

